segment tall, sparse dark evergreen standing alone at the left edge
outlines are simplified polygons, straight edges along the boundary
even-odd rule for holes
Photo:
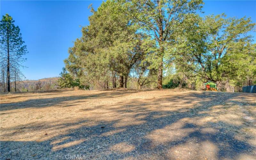
[[[27,53],[27,47],[22,40],[20,28],[14,25],[14,20],[9,14],[5,14],[0,22],[1,35],[1,66],[6,66],[7,92],[11,91],[11,68],[21,67],[26,59],[22,55]]]

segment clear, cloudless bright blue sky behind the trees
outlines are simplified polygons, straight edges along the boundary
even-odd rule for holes
[[[59,76],[68,48],[89,25],[88,6],[102,1],[0,1],[0,13],[8,13],[20,27],[28,59],[23,69],[27,79]],[[256,1],[204,1],[204,15],[226,13],[228,17],[251,17],[256,22]],[[256,37],[256,33],[251,33]],[[254,42],[256,42],[254,38]]]

